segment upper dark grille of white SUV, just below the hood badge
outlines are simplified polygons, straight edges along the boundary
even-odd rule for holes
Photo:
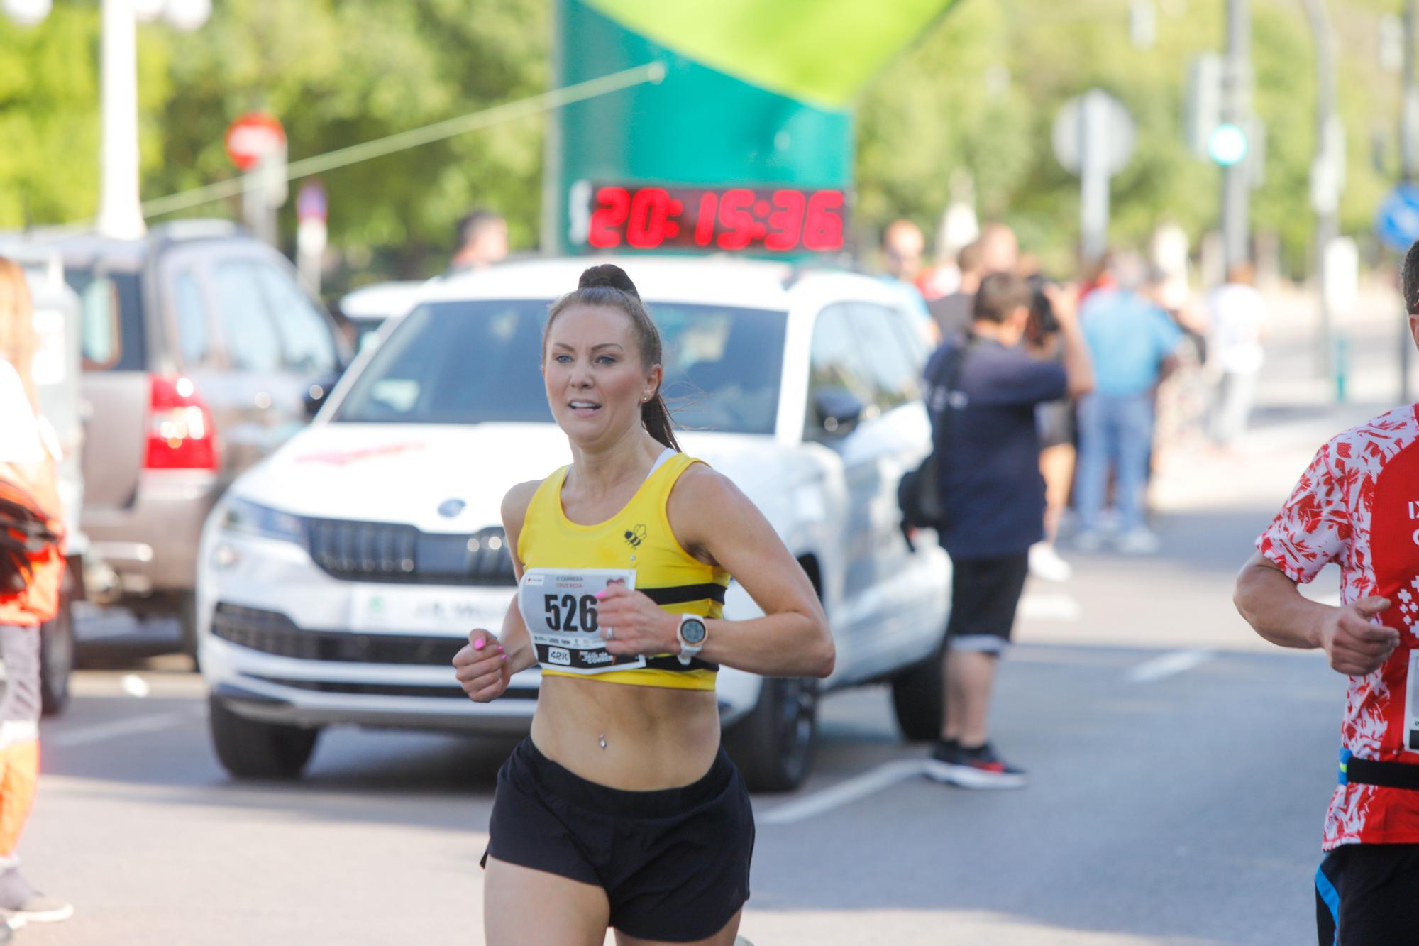
[[[316,565],[346,581],[517,584],[507,537],[497,527],[440,535],[399,523],[307,518],[305,541]]]

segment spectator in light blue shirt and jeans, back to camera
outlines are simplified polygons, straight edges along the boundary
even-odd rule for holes
[[[1117,284],[1091,293],[1078,312],[1094,361],[1095,388],[1078,405],[1076,541],[1084,551],[1100,547],[1100,514],[1112,470],[1118,550],[1147,554],[1158,550],[1158,537],[1144,524],[1154,393],[1172,364],[1182,330],[1142,294],[1142,260],[1121,256],[1112,276]]]

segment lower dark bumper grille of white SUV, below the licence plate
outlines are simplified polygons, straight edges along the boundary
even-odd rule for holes
[[[448,666],[450,670],[453,655],[464,645],[460,638],[302,631],[278,611],[226,601],[219,602],[211,615],[211,634],[237,646],[299,660]]]

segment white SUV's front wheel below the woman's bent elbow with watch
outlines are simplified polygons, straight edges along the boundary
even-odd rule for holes
[[[817,680],[765,678],[759,702],[724,736],[751,791],[792,791],[813,767]]]

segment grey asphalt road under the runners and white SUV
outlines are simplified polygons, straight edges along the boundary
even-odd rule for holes
[[[1259,643],[1230,608],[1267,516],[1175,511],[1156,558],[1076,557],[1074,581],[1032,584],[993,717],[1030,770],[1023,791],[931,783],[885,689],[829,696],[809,784],[755,798],[742,933],[756,946],[1314,942],[1344,680],[1320,655]],[[122,643],[121,631],[89,621],[85,636]],[[143,648],[162,649],[159,631]],[[21,854],[77,913],[18,942],[482,940],[478,858],[511,741],[329,732],[304,781],[238,784],[182,658],[129,656],[74,683],[71,709],[43,726]]]

